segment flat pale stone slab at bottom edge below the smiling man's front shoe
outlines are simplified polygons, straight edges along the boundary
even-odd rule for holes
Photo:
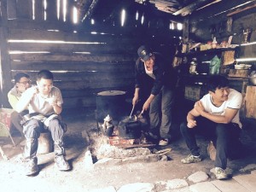
[[[223,192],[250,192],[234,179],[225,181],[216,180],[211,183]]]

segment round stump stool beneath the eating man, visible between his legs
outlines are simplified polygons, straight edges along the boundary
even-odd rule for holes
[[[48,154],[53,152],[54,145],[50,132],[43,132],[38,138],[38,154]]]

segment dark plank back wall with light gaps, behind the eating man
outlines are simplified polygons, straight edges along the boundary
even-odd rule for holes
[[[49,69],[54,85],[61,89],[63,107],[88,108],[96,106],[96,93],[102,90],[125,90],[131,95],[140,44],[150,43],[172,61],[176,40],[167,30],[145,33],[140,27],[74,25],[70,15],[66,22],[58,20],[55,0],[47,1],[44,20],[42,1],[35,2],[34,18],[31,1],[1,2],[6,12],[0,30],[3,107],[9,107],[11,79],[19,72],[28,73],[36,84],[38,71]]]

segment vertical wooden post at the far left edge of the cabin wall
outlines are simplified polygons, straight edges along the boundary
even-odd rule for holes
[[[0,73],[2,88],[2,104],[4,108],[9,108],[7,94],[12,87],[10,76],[10,58],[8,52],[8,26],[7,26],[7,0],[1,1],[2,20],[0,27]]]

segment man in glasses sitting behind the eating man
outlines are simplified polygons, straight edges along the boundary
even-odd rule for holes
[[[15,75],[15,86],[9,90],[8,101],[13,109],[16,108],[17,102],[20,100],[21,94],[30,87],[30,77],[26,73],[17,73]],[[26,108],[27,109],[27,108]],[[27,110],[24,110],[21,115],[26,114]],[[16,129],[21,133],[23,132],[22,125],[20,125],[21,116],[17,112],[11,114],[11,121],[15,125]]]

